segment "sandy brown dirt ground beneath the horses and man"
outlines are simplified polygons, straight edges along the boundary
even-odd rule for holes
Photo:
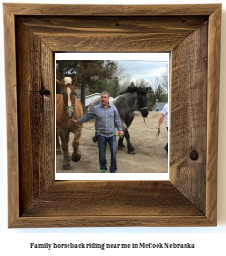
[[[168,140],[168,133],[165,128],[165,120],[160,129],[160,135],[157,138],[159,112],[149,112],[146,118],[146,124],[139,112],[136,112],[131,127],[130,141],[136,154],[128,154],[127,148],[117,150],[117,173],[167,173],[168,172],[168,154],[164,145]],[[94,128],[93,122],[84,123],[86,128]],[[154,129],[150,129],[154,128]],[[71,169],[63,170],[61,167],[62,155],[56,156],[56,173],[98,173],[98,146],[94,143],[92,137],[94,132],[83,128],[80,138],[81,160],[79,162],[70,161]],[[72,139],[69,143],[69,151],[72,153]],[[125,146],[126,140],[124,140]],[[110,163],[110,152],[106,150],[107,163]],[[109,168],[109,166],[108,166]],[[108,171],[109,172],[109,171]]]

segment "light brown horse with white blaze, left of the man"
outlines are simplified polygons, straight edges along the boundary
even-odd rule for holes
[[[78,162],[81,158],[79,139],[82,128],[72,123],[71,119],[82,117],[83,109],[76,95],[77,77],[74,77],[73,80],[70,77],[65,77],[64,82],[59,80],[57,82],[62,87],[62,94],[56,94],[56,154],[61,154],[59,136],[63,152],[62,168],[68,170],[71,168],[68,151],[70,133],[74,133],[72,160]]]

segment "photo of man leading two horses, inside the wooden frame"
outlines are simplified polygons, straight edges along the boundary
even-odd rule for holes
[[[56,56],[56,174],[168,173],[169,53],[74,56]]]

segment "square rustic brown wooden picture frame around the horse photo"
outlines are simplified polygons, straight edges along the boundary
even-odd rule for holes
[[[221,4],[3,4],[8,226],[216,226]],[[171,52],[170,179],[55,181],[54,53]]]

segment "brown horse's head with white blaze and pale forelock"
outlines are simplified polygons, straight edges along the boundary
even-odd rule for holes
[[[75,84],[77,82],[77,77],[74,77],[73,80],[70,77],[65,77],[64,82],[59,80],[57,80],[57,82],[62,87],[62,96],[66,107],[66,115],[68,119],[72,119],[76,100]]]

